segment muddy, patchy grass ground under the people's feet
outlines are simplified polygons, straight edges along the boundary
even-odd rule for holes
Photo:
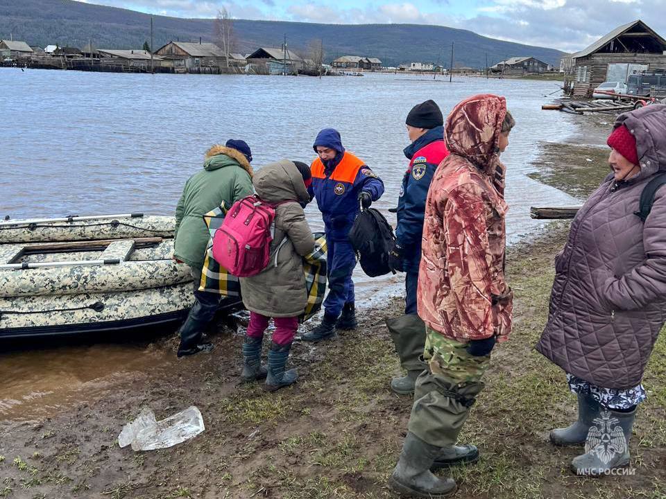
[[[607,150],[592,149],[596,167],[586,148],[547,146],[550,156],[535,175],[584,197],[606,174],[598,167]],[[552,157],[558,161],[546,164]],[[580,450],[548,442],[551,428],[575,417],[562,371],[533,350],[547,315],[553,257],[566,234],[567,222],[554,222],[509,252],[514,330],[493,353],[486,389],[461,435],[479,446],[482,459],[450,472],[459,483],[456,497],[666,498],[664,338],[644,379],[649,399],[631,441],[634,475],[577,478],[568,466]],[[399,315],[401,306],[395,300],[364,310],[359,329],[335,341],[296,342],[298,383],[273,394],[239,383],[242,338],[221,328],[210,355],[174,358],[166,369],[123,378],[42,421],[0,421],[0,498],[396,497],[386,478],[411,398],[388,389],[400,367],[384,318]],[[169,338],[146,351],[175,347]],[[123,424],[143,405],[158,419],[196,405],[205,432],[165,450],[119,448]]]

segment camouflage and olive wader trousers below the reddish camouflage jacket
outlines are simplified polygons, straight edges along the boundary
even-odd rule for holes
[[[454,445],[470,412],[490,356],[474,357],[466,343],[427,328],[424,360],[428,369],[416,380],[408,429],[428,444]]]

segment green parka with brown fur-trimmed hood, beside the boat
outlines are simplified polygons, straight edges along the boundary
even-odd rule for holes
[[[176,207],[173,256],[201,270],[210,234],[203,214],[224,202],[227,208],[252,195],[252,167],[241,152],[213,146],[206,152],[203,170],[185,182]]]

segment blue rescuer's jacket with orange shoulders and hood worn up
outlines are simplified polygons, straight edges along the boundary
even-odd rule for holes
[[[338,154],[325,164],[319,158],[313,161],[310,167],[312,184],[308,192],[317,200],[327,238],[345,240],[359,213],[361,192],[367,192],[373,201],[377,201],[384,193],[384,182],[364,161],[345,151],[336,130],[326,128],[319,132],[315,150],[317,146],[332,148]]]

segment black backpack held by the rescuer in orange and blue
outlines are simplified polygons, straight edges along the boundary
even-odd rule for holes
[[[370,277],[388,274],[388,252],[395,236],[393,227],[374,208],[361,210],[354,220],[349,240],[361,263],[361,268]]]

